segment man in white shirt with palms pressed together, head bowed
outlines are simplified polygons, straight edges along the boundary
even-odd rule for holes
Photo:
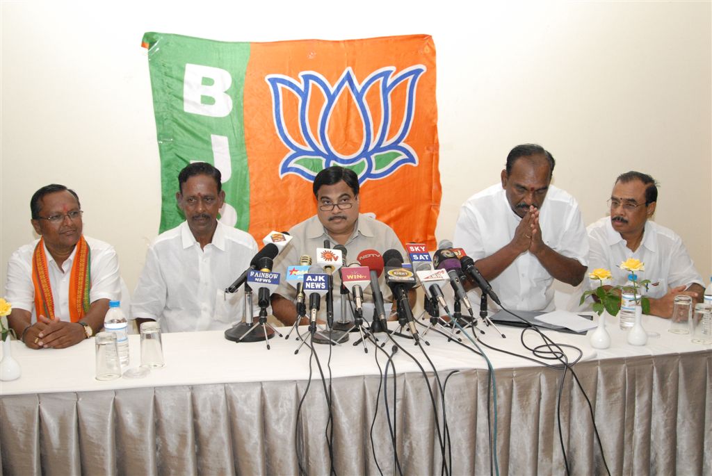
[[[588,243],[576,200],[551,185],[554,157],[536,144],[518,145],[496,184],[460,209],[453,236],[491,282],[503,307],[554,309],[554,280],[578,285]]]

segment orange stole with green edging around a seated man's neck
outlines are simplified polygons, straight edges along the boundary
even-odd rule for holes
[[[76,244],[74,261],[69,277],[69,318],[78,322],[89,310],[91,252],[84,236]],[[54,299],[49,280],[47,257],[44,253],[44,238],[40,238],[32,255],[32,284],[35,287],[35,311],[54,320]]]

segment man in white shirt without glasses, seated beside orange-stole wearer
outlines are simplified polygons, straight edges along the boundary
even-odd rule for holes
[[[221,174],[210,164],[186,166],[176,200],[186,221],[148,248],[131,306],[138,324],[153,319],[164,332],[227,329],[244,314],[241,292],[226,287],[257,253],[244,231],[217,221],[225,201]]]

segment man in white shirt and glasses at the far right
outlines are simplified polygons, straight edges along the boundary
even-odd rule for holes
[[[702,301],[702,277],[695,270],[685,245],[669,228],[649,220],[655,213],[658,188],[648,174],[629,171],[616,179],[609,199],[610,216],[592,223],[587,231],[591,252],[589,268],[611,271],[614,283],[623,285],[627,271],[618,265],[636,258],[645,265],[639,280],[650,280],[645,292],[650,314],[670,317],[676,295]],[[596,287],[587,279],[587,288]]]

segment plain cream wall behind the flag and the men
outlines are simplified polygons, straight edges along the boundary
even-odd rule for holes
[[[9,255],[34,238],[29,198],[51,182],[78,191],[85,233],[115,245],[135,285],[159,221],[145,31],[224,41],[429,33],[438,55],[439,239],[451,238],[460,204],[498,179],[513,145],[538,142],[557,159],[554,183],[577,196],[586,223],[605,213],[617,174],[652,174],[661,182],[657,221],[710,275],[709,2],[463,9],[367,0],[347,9],[330,0],[306,11],[293,1],[256,3],[2,1],[3,288]]]

